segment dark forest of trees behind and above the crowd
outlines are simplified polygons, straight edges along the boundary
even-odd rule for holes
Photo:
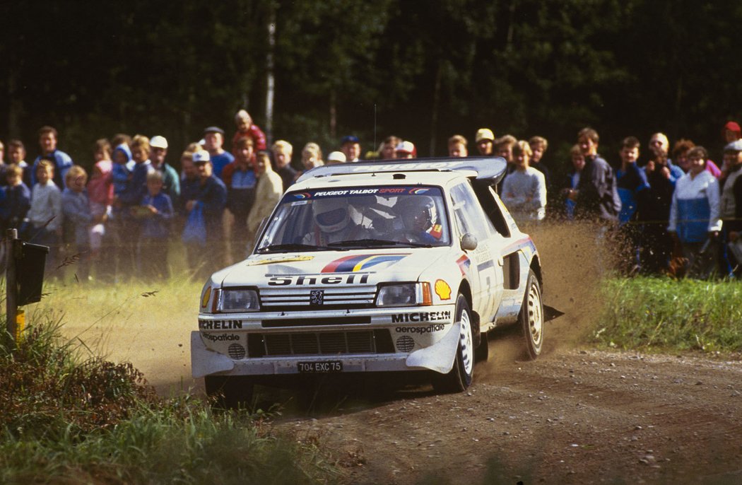
[[[441,155],[489,127],[548,138],[562,171],[584,126],[608,160],[654,131],[720,160],[721,127],[742,114],[738,1],[16,0],[0,16],[0,140],[31,159],[52,125],[84,166],[119,132],[164,135],[177,166],[246,108],[295,152],[395,134]]]

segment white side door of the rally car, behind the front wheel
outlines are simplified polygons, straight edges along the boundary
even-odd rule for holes
[[[482,211],[468,180],[453,186],[450,195],[459,238],[469,233],[477,239],[476,249],[462,250],[462,258],[470,259],[467,270],[472,272],[473,310],[479,313],[482,323],[488,323],[494,319],[502,297],[502,258],[499,258],[499,244],[496,243],[502,236]]]

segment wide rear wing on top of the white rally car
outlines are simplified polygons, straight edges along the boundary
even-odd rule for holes
[[[304,172],[296,181],[334,175],[372,174],[378,172],[470,172],[467,177],[498,183],[508,163],[502,157],[406,158],[404,160],[367,160],[318,166]]]

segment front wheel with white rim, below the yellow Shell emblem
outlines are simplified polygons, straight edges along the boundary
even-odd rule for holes
[[[456,322],[462,322],[459,347],[448,374],[436,374],[433,388],[440,393],[466,391],[474,376],[474,339],[469,304],[463,295],[456,298]]]

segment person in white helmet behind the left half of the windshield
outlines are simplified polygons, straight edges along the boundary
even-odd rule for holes
[[[350,217],[350,206],[345,198],[317,199],[312,202],[315,229],[305,235],[303,244],[326,244],[354,241],[369,237],[368,230],[355,224]]]

